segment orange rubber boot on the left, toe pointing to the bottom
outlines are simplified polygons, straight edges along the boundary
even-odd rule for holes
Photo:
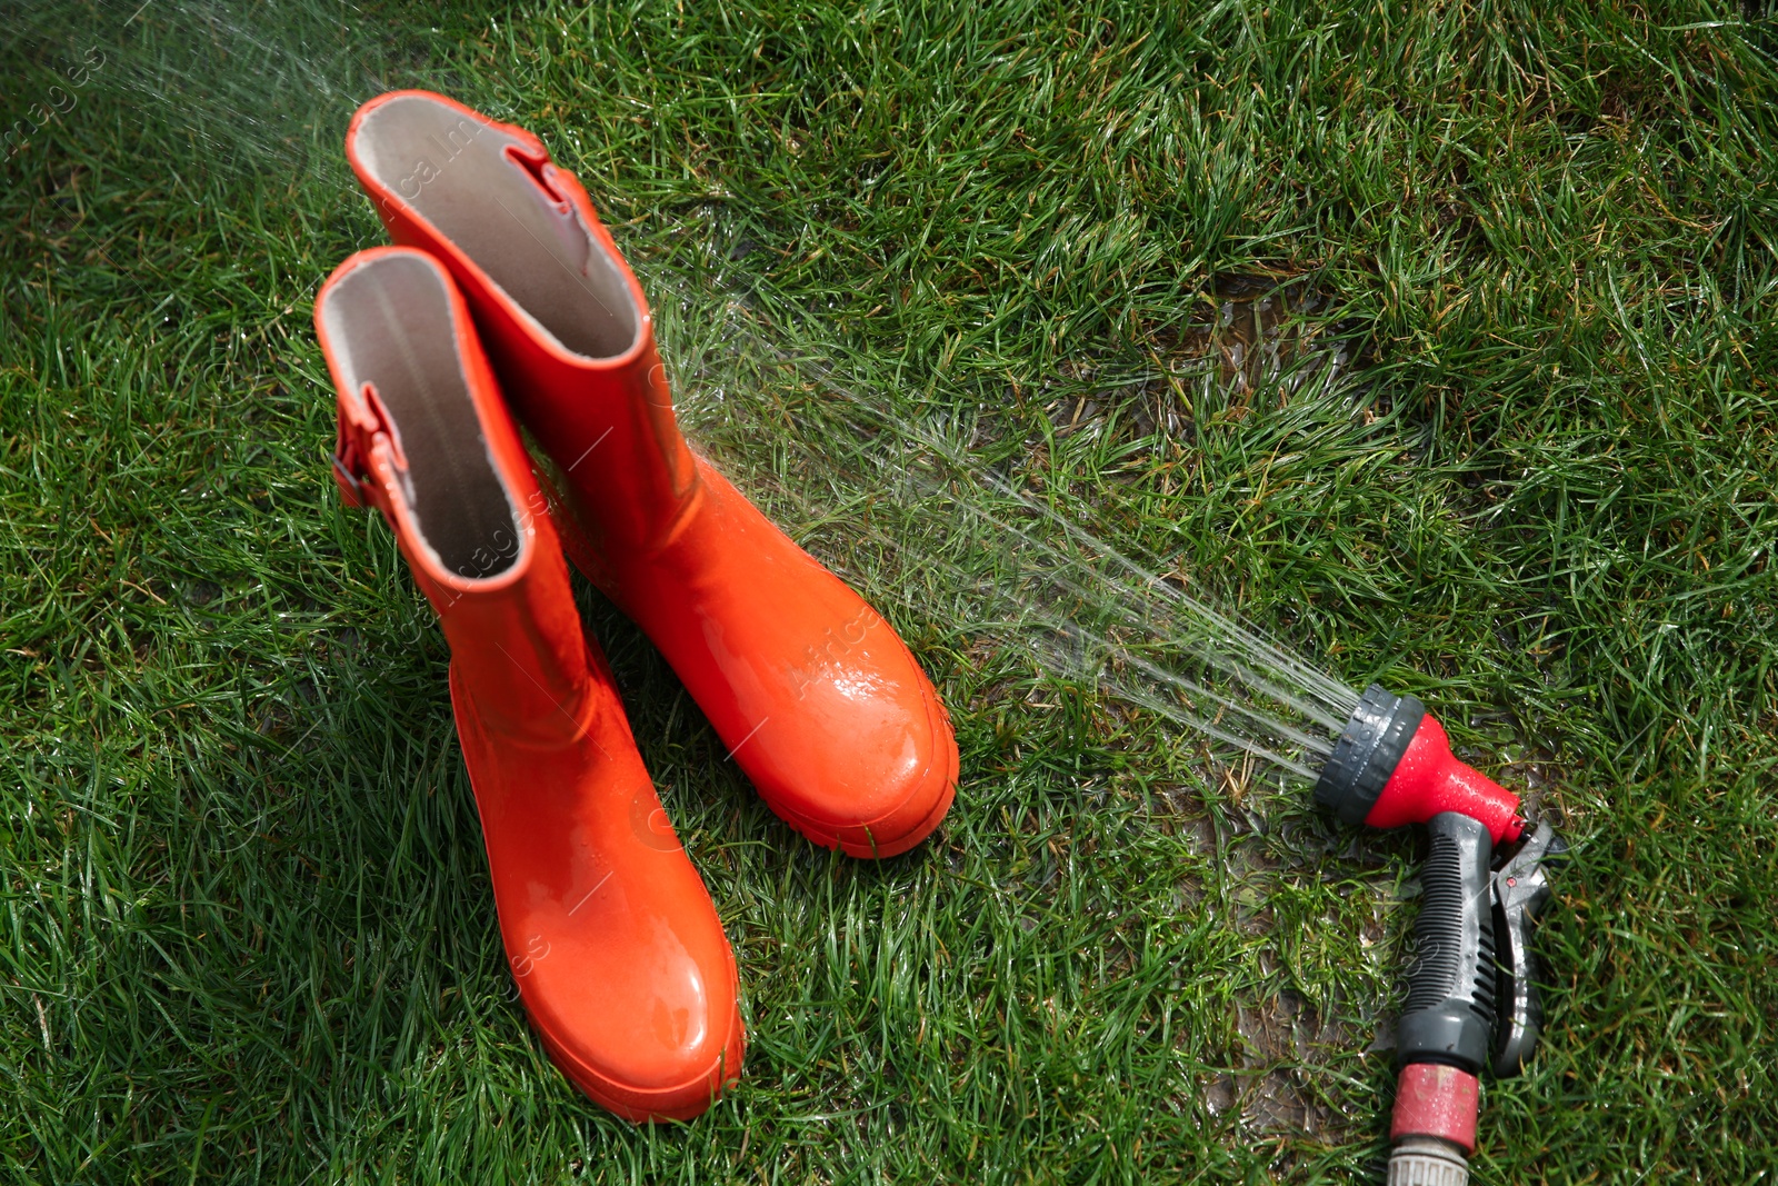
[[[631,1120],[686,1120],[741,1065],[734,955],[642,766],[462,295],[363,251],[315,299],[334,477],[395,528],[450,640],[500,935],[551,1060]]]

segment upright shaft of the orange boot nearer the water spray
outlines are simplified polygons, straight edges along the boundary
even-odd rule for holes
[[[589,503],[596,542],[660,546],[697,468],[642,286],[580,181],[528,132],[425,91],[359,108],[347,156],[389,235],[468,293],[507,398]]]

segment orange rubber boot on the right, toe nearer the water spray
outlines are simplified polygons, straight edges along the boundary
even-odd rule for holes
[[[564,475],[569,555],[654,640],[766,804],[861,857],[939,825],[957,741],[894,629],[690,452],[642,286],[542,142],[425,91],[359,108],[347,158],[396,242],[462,286]]]

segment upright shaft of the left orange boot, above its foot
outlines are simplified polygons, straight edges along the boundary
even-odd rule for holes
[[[491,729],[587,725],[587,644],[567,565],[468,308],[434,260],[375,249],[315,302],[340,393],[334,477],[389,521]]]

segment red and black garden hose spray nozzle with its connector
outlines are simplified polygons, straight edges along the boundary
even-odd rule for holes
[[[1451,754],[1412,695],[1366,688],[1316,782],[1346,823],[1424,823],[1431,836],[1414,925],[1417,957],[1396,1030],[1389,1186],[1463,1186],[1476,1149],[1479,1074],[1518,1074],[1543,1028],[1529,930],[1565,852],[1547,823],[1490,875],[1495,846],[1524,839],[1518,797]]]

